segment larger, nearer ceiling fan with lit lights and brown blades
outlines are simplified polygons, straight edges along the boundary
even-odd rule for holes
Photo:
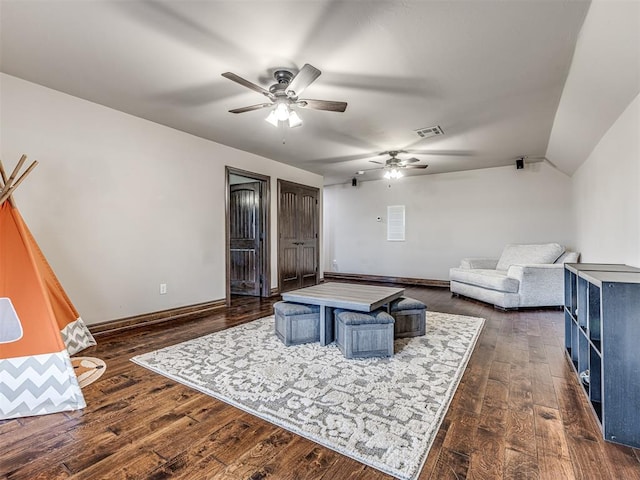
[[[311,85],[321,73],[322,72],[320,70],[308,63],[305,63],[305,65],[296,74],[290,70],[278,69],[273,73],[276,83],[271,85],[269,90],[266,90],[249,80],[245,80],[235,73],[225,72],[222,74],[223,77],[261,93],[270,100],[269,103],[258,103],[248,107],[235,108],[233,110],[229,110],[229,112],[244,113],[275,105],[275,108],[271,113],[269,113],[266,121],[276,127],[280,122],[288,122],[289,127],[291,128],[302,125],[302,119],[298,116],[295,110],[293,110],[293,107],[327,110],[330,112],[344,112],[347,108],[346,102],[300,98],[302,92]]]

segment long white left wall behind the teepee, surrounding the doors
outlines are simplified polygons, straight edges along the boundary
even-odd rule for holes
[[[224,298],[225,165],[271,176],[272,232],[277,178],[322,187],[319,175],[4,74],[0,122],[5,168],[23,153],[40,162],[15,198],[87,323]],[[271,249],[275,287],[275,234]]]

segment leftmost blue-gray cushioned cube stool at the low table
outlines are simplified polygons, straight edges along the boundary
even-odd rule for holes
[[[276,335],[287,347],[320,341],[320,307],[302,303],[276,302]]]

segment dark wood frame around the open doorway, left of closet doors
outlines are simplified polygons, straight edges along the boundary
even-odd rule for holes
[[[260,297],[271,296],[271,234],[270,234],[270,210],[271,210],[271,177],[259,173],[241,170],[239,168],[225,166],[225,221],[224,221],[224,242],[225,242],[225,299],[227,306],[231,306],[231,236],[230,236],[230,206],[231,206],[231,175],[240,175],[251,178],[262,184],[262,200],[259,206],[260,225],[263,237],[262,258],[258,262],[260,274],[262,275],[262,287]]]

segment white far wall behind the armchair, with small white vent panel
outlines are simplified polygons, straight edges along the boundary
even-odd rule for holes
[[[405,242],[386,240],[388,205],[406,206]],[[571,181],[546,163],[325,187],[324,213],[325,271],[448,280],[506,243],[574,244]]]

